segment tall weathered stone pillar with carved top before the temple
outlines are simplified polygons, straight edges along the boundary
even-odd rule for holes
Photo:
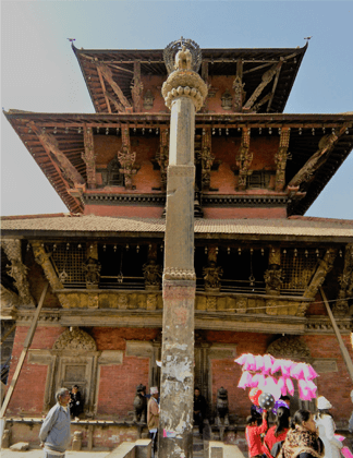
[[[195,110],[207,95],[196,73],[198,46],[179,40],[165,50],[170,73],[162,86],[171,109],[163,272],[160,457],[193,455],[194,396],[194,134]],[[187,47],[187,49],[186,49]],[[181,49],[180,49],[181,48]],[[174,52],[175,64],[173,61]]]

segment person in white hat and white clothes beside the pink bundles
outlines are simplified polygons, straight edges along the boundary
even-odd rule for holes
[[[336,424],[329,412],[329,409],[332,409],[332,405],[325,396],[319,396],[316,407],[315,423],[319,431],[319,437],[325,445],[325,458],[340,458],[340,449],[343,445],[341,441],[334,437]]]

